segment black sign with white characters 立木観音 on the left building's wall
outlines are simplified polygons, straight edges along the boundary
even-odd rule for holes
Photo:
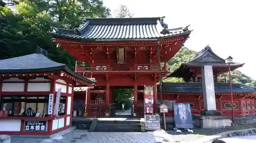
[[[25,121],[24,131],[47,131],[47,121]]]

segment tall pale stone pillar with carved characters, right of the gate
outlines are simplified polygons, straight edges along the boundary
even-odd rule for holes
[[[202,67],[201,78],[202,78],[204,109],[205,109],[204,111],[201,111],[201,115],[221,116],[221,113],[216,111],[214,76],[212,73],[211,65],[204,65]]]

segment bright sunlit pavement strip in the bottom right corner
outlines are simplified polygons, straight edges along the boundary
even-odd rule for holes
[[[256,135],[223,138],[226,143],[255,143]]]

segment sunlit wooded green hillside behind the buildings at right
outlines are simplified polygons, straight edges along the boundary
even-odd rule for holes
[[[182,47],[175,56],[168,61],[168,70],[169,72],[175,71],[177,68],[180,67],[182,63],[186,63],[189,61],[189,59],[193,58],[193,56],[196,54],[196,51],[190,50],[187,47]],[[226,78],[229,80],[228,73],[224,73],[219,75],[218,79],[223,80]],[[246,85],[250,85],[253,87],[256,87],[256,81],[249,76],[246,76],[239,70],[234,70],[231,72],[231,78],[232,82],[234,83],[244,83]],[[184,82],[182,78],[165,78],[163,79],[164,82]]]

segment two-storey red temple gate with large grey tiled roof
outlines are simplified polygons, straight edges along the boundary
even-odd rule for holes
[[[166,62],[191,31],[188,26],[168,29],[163,17],[150,17],[86,18],[75,30],[53,27],[52,33],[55,43],[83,62],[76,65],[76,72],[97,81],[96,87],[88,90],[87,116],[109,117],[115,88],[133,88],[134,116],[144,115],[143,85],[154,85],[157,99],[159,75],[167,75]],[[85,98],[82,90],[77,91],[79,94]]]

